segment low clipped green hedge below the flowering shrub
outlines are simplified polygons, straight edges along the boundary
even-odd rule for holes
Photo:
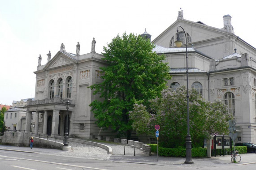
[[[156,144],[148,144],[151,146],[151,152],[156,153]],[[192,157],[207,157],[207,149],[192,148]],[[186,148],[162,148],[158,147],[158,155],[162,157],[186,157]]]

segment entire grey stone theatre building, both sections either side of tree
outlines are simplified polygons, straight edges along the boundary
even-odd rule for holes
[[[178,26],[185,32],[179,29],[177,33]],[[175,47],[178,34],[183,42],[180,48]],[[151,38],[146,31],[142,36]],[[223,17],[223,28],[218,29],[201,21],[185,20],[180,11],[178,19],[152,41],[156,45],[153,51],[166,55],[165,62],[173,76],[167,86],[173,90],[187,85],[186,41],[189,87],[197,89],[208,101],[221,100],[227,105],[236,121],[235,142],[256,143],[256,48],[234,34],[230,15]],[[63,136],[68,119],[71,136],[114,136],[97,127],[89,106],[100,99],[88,87],[103,81],[103,55],[95,52],[95,40],[90,53],[80,55],[79,50],[78,43],[77,54],[69,53],[62,43],[60,51],[46,65],[41,65],[39,56],[35,101],[29,100],[26,106],[26,130],[30,130],[35,112],[32,131],[37,134]],[[67,100],[71,102],[68,116]]]

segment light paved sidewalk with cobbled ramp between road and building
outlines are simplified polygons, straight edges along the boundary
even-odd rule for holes
[[[99,141],[99,143],[101,143]],[[104,143],[106,144],[106,143]],[[113,154],[108,155],[105,149],[70,142],[72,149],[70,151],[62,151],[58,149],[43,149],[43,148],[33,148],[30,147],[15,147],[15,146],[6,146],[0,145],[0,150],[12,150],[18,152],[27,152],[27,153],[39,153],[39,154],[51,154],[58,156],[68,156],[68,157],[83,157],[88,159],[102,159],[110,161],[121,161],[121,162],[134,162],[134,163],[143,163],[143,164],[154,164],[154,165],[165,165],[165,166],[231,166],[234,165],[231,163],[230,155],[226,156],[217,156],[212,158],[192,158],[193,164],[184,164],[186,158],[180,157],[158,157],[156,161],[156,155],[153,156],[144,156],[143,152],[139,149],[135,149],[134,156],[134,147],[125,146],[123,144],[106,144],[113,149]],[[126,154],[124,155],[124,147],[126,148]],[[251,164],[256,163],[256,154],[247,153],[240,154],[242,160],[236,165]]]

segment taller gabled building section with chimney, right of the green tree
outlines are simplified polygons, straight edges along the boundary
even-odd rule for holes
[[[177,27],[182,26],[185,32]],[[175,47],[177,35],[182,47]],[[236,121],[235,142],[256,143],[256,48],[234,34],[231,16],[223,17],[223,28],[203,22],[188,21],[180,11],[177,21],[152,42],[154,51],[166,55],[173,76],[168,86],[187,85],[186,36],[188,51],[188,84],[213,102],[221,100]]]

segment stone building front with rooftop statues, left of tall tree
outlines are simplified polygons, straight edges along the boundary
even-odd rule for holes
[[[91,53],[80,55],[61,49],[37,67],[35,100],[28,100],[26,105],[26,130],[36,134],[64,136],[68,119],[69,136],[92,138],[99,135],[100,128],[95,125],[95,118],[89,104],[97,98],[88,87],[102,81],[100,67],[105,66],[103,55],[95,53],[95,40]],[[66,102],[70,101],[69,110]],[[33,119],[32,113],[33,114]],[[68,116],[67,116],[68,112]],[[102,135],[102,134],[100,134]]]

